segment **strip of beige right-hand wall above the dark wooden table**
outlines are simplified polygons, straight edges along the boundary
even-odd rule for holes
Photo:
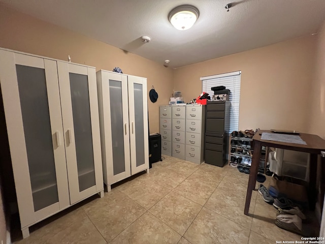
[[[325,22],[317,34],[316,62],[310,103],[309,133],[325,139]]]

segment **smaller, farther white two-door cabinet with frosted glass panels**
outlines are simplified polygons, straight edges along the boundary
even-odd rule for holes
[[[104,182],[149,171],[147,79],[101,70],[98,85]]]

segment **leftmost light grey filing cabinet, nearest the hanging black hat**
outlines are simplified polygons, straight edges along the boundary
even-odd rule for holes
[[[161,154],[172,156],[172,106],[160,106]]]

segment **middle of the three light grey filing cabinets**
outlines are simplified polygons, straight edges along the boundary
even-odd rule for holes
[[[172,156],[185,160],[186,104],[172,106]]]

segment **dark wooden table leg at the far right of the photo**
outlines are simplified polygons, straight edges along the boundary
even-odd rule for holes
[[[308,202],[309,209],[315,210],[316,204],[316,177],[317,177],[317,154],[310,154]]]

